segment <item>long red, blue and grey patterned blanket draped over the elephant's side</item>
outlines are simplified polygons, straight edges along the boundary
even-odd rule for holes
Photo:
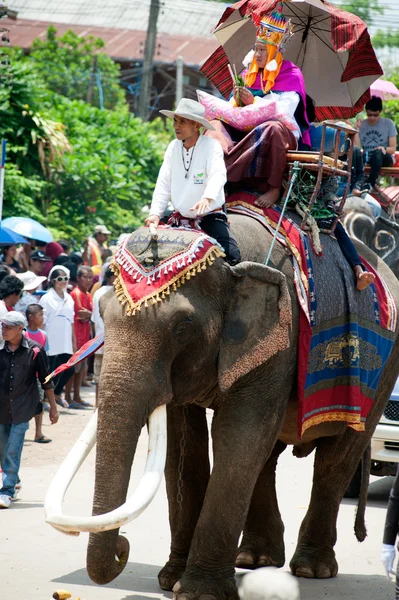
[[[251,216],[276,231],[280,210],[254,205],[256,196],[237,192],[228,212]],[[293,214],[293,213],[289,213]],[[397,322],[394,299],[382,278],[359,292],[338,242],[323,236],[323,256],[290,216],[276,240],[289,248],[301,307],[298,338],[298,432],[326,421],[344,421],[363,431],[389,357]]]

